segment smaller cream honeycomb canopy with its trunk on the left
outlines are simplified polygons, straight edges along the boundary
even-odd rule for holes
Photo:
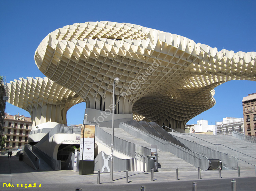
[[[7,83],[8,102],[28,111],[32,125],[45,122],[66,124],[69,108],[84,100],[48,78],[20,78]]]

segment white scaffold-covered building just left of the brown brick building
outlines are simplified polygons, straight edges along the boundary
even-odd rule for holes
[[[244,120],[237,117],[225,117],[216,122],[216,135],[232,135],[232,131],[244,134]]]

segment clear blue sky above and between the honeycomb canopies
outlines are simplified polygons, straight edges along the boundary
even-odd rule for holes
[[[0,75],[7,82],[20,77],[45,77],[34,62],[34,53],[50,32],[87,21],[114,21],[142,25],[185,36],[196,43],[234,52],[256,51],[256,1],[86,1],[1,0]],[[225,117],[242,117],[242,99],[256,92],[256,82],[229,81],[215,88],[216,105],[191,119],[215,124]],[[85,103],[67,113],[69,124],[81,124]],[[6,112],[30,117],[11,104]]]

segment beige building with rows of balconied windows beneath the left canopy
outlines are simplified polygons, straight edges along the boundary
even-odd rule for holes
[[[6,137],[5,149],[20,148],[28,143],[28,135],[31,131],[30,117],[24,115],[4,115],[3,135]]]

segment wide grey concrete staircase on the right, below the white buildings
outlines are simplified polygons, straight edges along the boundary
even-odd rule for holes
[[[236,137],[224,136],[224,135],[193,134],[193,136],[191,136],[191,134],[180,134],[180,133],[171,133],[171,134],[177,137],[187,139],[189,141],[196,142],[198,144],[209,147],[211,149],[215,149],[217,151],[227,153],[231,156],[238,158],[238,166],[240,166],[240,169],[255,169],[254,167],[254,165],[256,165],[256,150],[255,150],[256,144],[255,143],[245,142],[245,141],[239,140]],[[219,144],[219,145],[213,145],[213,144]]]

